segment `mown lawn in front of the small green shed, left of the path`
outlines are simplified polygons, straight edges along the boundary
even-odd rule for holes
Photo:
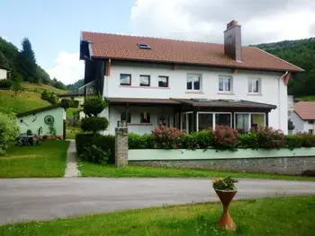
[[[12,146],[6,155],[0,156],[0,178],[63,177],[67,146],[68,142],[57,140],[35,146]]]

